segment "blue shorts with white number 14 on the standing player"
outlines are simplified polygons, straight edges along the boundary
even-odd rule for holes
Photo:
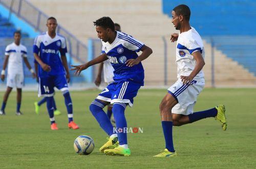
[[[58,90],[69,90],[65,75],[39,77],[38,97],[51,97],[54,95],[54,87]]]

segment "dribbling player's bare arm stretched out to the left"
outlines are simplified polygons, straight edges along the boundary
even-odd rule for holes
[[[77,65],[77,66],[71,65],[74,68],[71,68],[70,70],[75,70],[74,74],[79,75],[81,73],[81,71],[86,70],[87,68],[89,68],[90,66],[93,66],[95,64],[104,62],[107,59],[108,59],[108,57],[106,57],[106,53],[102,53],[99,55],[99,57],[87,62],[86,64]]]

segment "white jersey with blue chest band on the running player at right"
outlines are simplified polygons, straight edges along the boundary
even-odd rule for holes
[[[188,76],[196,66],[192,53],[199,51],[204,59],[204,45],[198,32],[191,27],[187,32],[179,34],[176,48],[177,77]],[[204,72],[201,70],[194,80],[204,82]]]

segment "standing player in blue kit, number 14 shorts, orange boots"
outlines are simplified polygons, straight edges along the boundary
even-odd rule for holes
[[[56,34],[57,20],[54,17],[48,18],[46,25],[48,31],[37,36],[33,46],[35,60],[40,65],[38,68],[38,96],[47,97],[51,129],[57,130],[53,113],[53,95],[54,87],[59,89],[65,98],[69,119],[68,127],[78,129],[78,125],[73,121],[73,106],[68,88],[70,74],[66,58],[66,40],[65,37]]]

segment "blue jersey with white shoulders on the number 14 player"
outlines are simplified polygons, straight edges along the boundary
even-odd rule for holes
[[[34,41],[33,52],[39,55],[42,62],[51,67],[51,71],[46,72],[39,66],[39,77],[65,74],[65,69],[59,58],[60,55],[65,55],[67,53],[65,37],[56,34],[54,38],[51,38],[47,32],[46,34],[39,35]]]

